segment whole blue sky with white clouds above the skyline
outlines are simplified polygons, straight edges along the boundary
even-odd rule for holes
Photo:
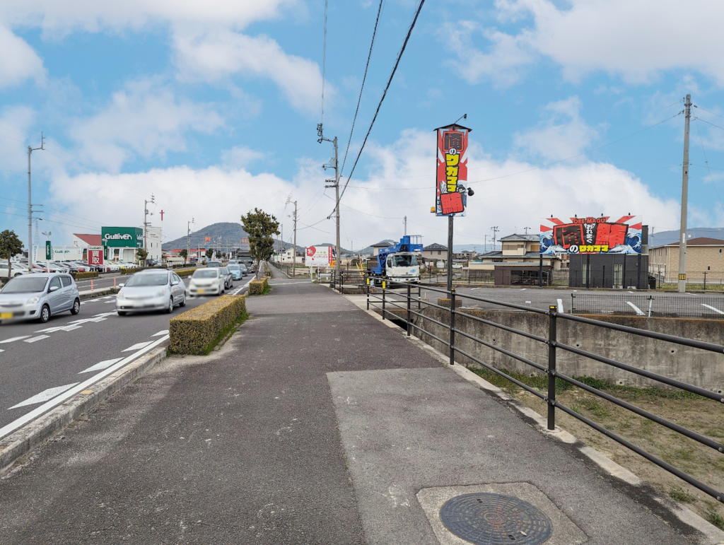
[[[333,240],[321,169],[333,151],[316,142],[324,0],[61,4],[0,2],[2,229],[27,238],[26,148],[43,131],[33,202],[56,244],[139,225],[152,193],[167,240],[192,218],[198,229],[255,206],[289,240],[287,198],[298,243]],[[344,174],[417,4],[384,1]],[[536,232],[551,214],[630,212],[676,229],[686,93],[700,106],[689,226],[721,226],[724,6],[696,4],[682,21],[673,1],[427,0],[342,200],[342,245],[399,237],[403,216],[426,244],[445,242],[445,219],[429,213],[432,130],[463,114],[476,195],[456,244],[484,245],[493,226]],[[324,134],[340,161],[378,7],[329,0]]]

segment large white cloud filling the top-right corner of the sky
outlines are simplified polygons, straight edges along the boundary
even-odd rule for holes
[[[560,9],[551,0],[497,0],[495,5],[503,22],[530,16],[533,23],[518,33],[480,30],[492,43],[487,54],[458,51],[473,81],[486,76],[513,83],[526,64],[545,56],[574,82],[599,70],[645,83],[660,72],[694,69],[724,85],[720,1],[697,2],[691,16],[684,16],[674,0],[570,0]],[[466,25],[476,28],[473,22]]]

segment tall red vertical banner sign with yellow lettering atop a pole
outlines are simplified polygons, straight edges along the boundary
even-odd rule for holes
[[[436,216],[465,216],[468,132],[470,129],[455,124],[437,129]]]

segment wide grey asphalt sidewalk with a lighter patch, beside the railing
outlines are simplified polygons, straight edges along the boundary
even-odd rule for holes
[[[435,513],[469,491],[534,504],[547,544],[705,542],[345,297],[271,285],[1,479],[0,542],[460,544]]]

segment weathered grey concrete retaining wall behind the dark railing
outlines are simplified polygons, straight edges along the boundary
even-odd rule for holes
[[[450,323],[450,313],[445,310],[426,308],[422,312],[424,316],[429,316],[445,324]],[[529,360],[540,363],[542,366],[547,366],[547,345],[494,326],[481,324],[478,321],[466,318],[464,316],[466,313],[546,338],[548,337],[548,316],[499,310],[462,310],[455,317],[456,329],[466,331],[466,333],[474,337],[524,356]],[[589,317],[637,329],[660,331],[677,337],[724,345],[724,321],[628,316]],[[414,321],[427,331],[441,339],[449,339],[446,328],[434,324],[432,321],[423,320],[418,316],[414,318]],[[424,324],[421,324],[421,321],[424,321]],[[422,333],[418,329],[414,329],[413,334],[416,334],[416,336],[437,350],[447,353],[447,347],[429,335]],[[579,324],[565,319],[557,321],[557,339],[565,345],[578,347],[672,379],[701,386],[714,392],[721,393],[724,389],[724,354],[684,347],[589,324]],[[525,363],[481,345],[479,342],[474,342],[460,334],[455,338],[455,345],[496,368],[506,368],[521,373],[536,371]],[[458,355],[455,360],[460,363],[471,363],[471,360],[463,355]],[[597,379],[605,379],[631,386],[663,386],[656,381],[645,379],[634,373],[607,366],[605,363],[599,363],[565,350],[557,350],[557,368],[561,373],[568,376],[592,376]]]

